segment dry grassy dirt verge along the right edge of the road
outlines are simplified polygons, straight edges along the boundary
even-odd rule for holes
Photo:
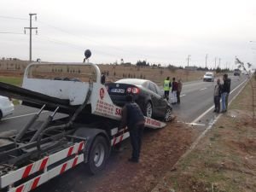
[[[255,80],[253,86],[256,88]],[[256,125],[252,103],[252,90],[247,84],[228,113],[152,191],[255,192]]]

